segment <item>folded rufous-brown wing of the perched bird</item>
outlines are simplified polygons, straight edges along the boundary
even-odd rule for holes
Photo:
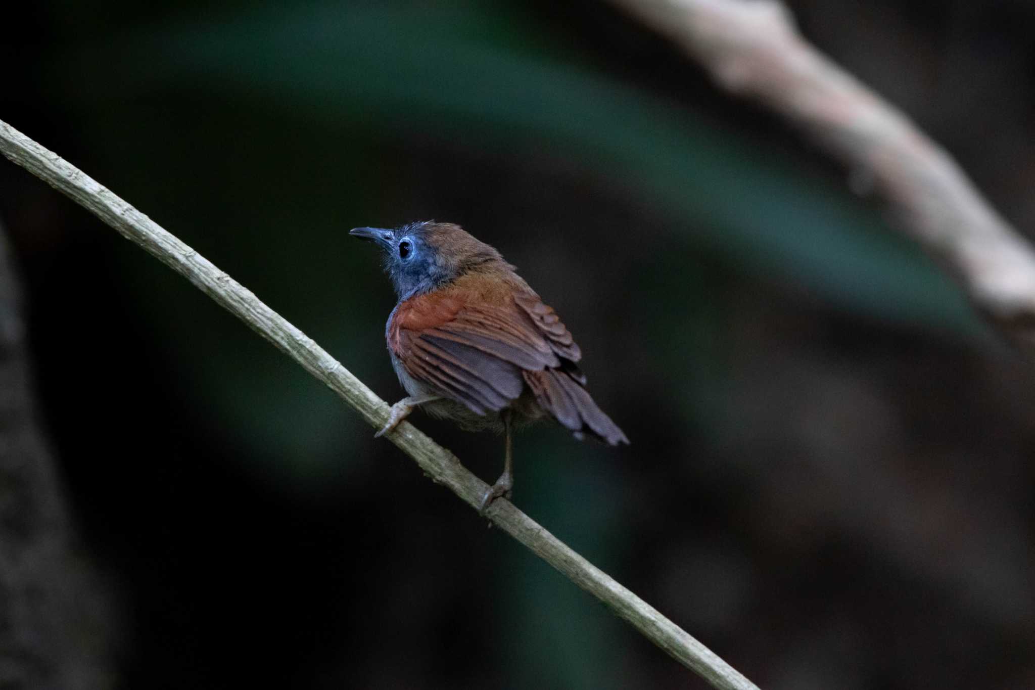
[[[521,396],[523,371],[567,368],[580,357],[553,309],[524,295],[510,304],[411,298],[392,318],[388,344],[407,373],[479,415]]]

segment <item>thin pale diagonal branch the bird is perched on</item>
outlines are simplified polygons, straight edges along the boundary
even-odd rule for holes
[[[111,190],[4,122],[0,122],[0,151],[188,279],[337,393],[372,426],[380,428],[387,421],[388,404],[320,346],[266,306],[252,292]],[[455,455],[409,422],[400,424],[386,438],[416,460],[434,482],[445,484],[471,507],[479,507],[481,497],[489,487],[465,469]],[[602,601],[641,634],[684,666],[698,672],[713,687],[721,690],[758,690],[750,681],[711,650],[546,532],[508,501],[494,502],[486,514],[507,534]]]

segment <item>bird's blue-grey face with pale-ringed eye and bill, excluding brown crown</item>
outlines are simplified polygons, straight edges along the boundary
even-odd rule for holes
[[[353,228],[349,234],[374,242],[384,251],[385,271],[400,299],[425,293],[449,279],[439,268],[435,249],[424,238],[426,222],[386,228]]]

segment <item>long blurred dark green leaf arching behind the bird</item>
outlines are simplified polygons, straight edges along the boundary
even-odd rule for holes
[[[973,328],[944,276],[844,187],[592,70],[512,5],[300,3],[103,42],[76,56],[102,70],[75,81],[102,99],[106,119],[112,99],[189,87],[259,108],[290,103],[295,126],[348,122],[362,127],[355,138],[500,154],[545,143],[582,174],[617,181],[678,218],[737,266],[793,277],[846,308]],[[357,183],[345,175],[354,145],[337,151],[345,194]]]

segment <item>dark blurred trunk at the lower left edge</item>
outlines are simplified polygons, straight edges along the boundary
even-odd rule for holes
[[[36,420],[19,287],[0,227],[0,687],[100,690],[115,685],[113,611]]]

